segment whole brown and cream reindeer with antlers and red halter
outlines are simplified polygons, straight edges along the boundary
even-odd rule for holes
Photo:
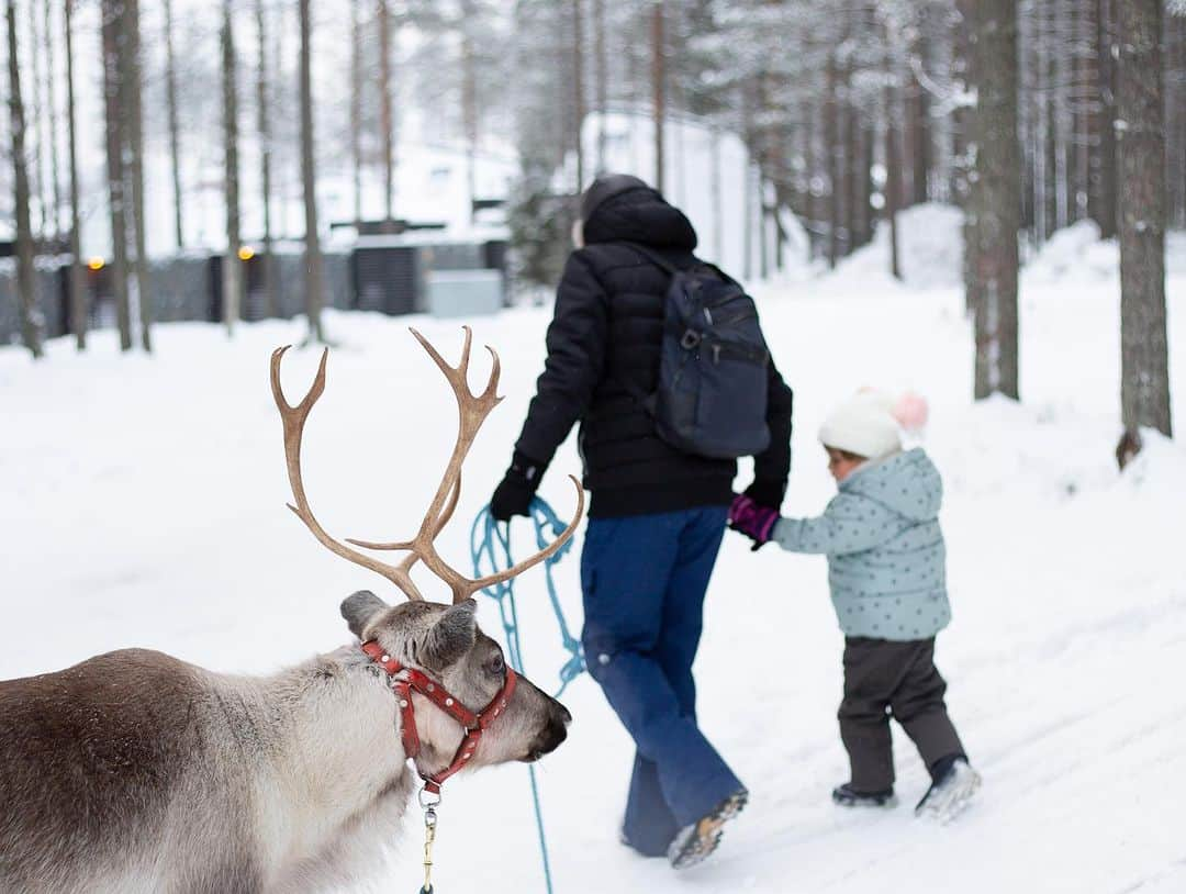
[[[318,541],[395,583],[410,601],[358,592],[342,614],[358,643],[269,677],[215,673],[160,652],[123,650],[66,670],[0,683],[0,892],[272,894],[346,885],[382,864],[417,777],[427,793],[465,767],[534,761],[555,749],[568,711],[510,669],[474,621],[473,594],[554,554],[468,579],[438,555],[461,490],[461,464],[502,400],[470,390],[468,328],[458,366],[413,334],[445,373],[460,413],[457,446],[397,566],[333,539],[301,480],[305,420],[325,389],[327,352],[295,407],[272,389],[283,421],[293,512]],[[425,601],[423,564],[453,604]],[[275,631],[261,649],[276,647]]]

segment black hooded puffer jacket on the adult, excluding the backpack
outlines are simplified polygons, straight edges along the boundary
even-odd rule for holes
[[[670,275],[621,242],[643,243],[676,267],[690,267],[695,230],[650,189],[608,199],[584,230],[586,247],[569,256],[556,293],[548,359],[516,452],[542,468],[580,421],[589,516],[728,504],[737,462],[670,447],[623,385],[632,383],[635,394],[655,390]],[[790,471],[791,390],[773,362],[767,422],[771,447],[755,458],[755,478],[780,488]]]

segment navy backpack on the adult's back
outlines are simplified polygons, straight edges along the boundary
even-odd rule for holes
[[[664,441],[684,453],[737,459],[770,446],[770,351],[758,308],[716,267],[680,269],[627,243],[669,274],[658,385],[636,397]],[[630,388],[635,391],[636,389]]]

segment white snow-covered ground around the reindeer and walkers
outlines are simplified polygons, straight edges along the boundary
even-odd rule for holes
[[[1066,249],[1071,250],[1071,249]],[[1095,250],[1095,249],[1092,249]],[[556,890],[1186,890],[1186,448],[1156,436],[1116,472],[1118,288],[1091,264],[1035,264],[1024,280],[1024,403],[973,406],[962,295],[881,277],[759,289],[766,332],[795,387],[788,510],[833,491],[814,441],[825,409],[868,383],[931,400],[926,439],[946,479],[955,621],[939,638],[950,707],[982,797],[957,824],[916,822],[925,788],[898,736],[904,804],[831,805],[847,764],[836,732],[842,639],[824,563],[731,536],[709,595],[697,664],[704,727],[753,792],[719,855],[675,877],[617,842],[631,746],[587,678],[566,694],[569,741],[541,765]],[[1186,427],[1186,270],[1171,290],[1175,419]],[[1045,270],[1038,275],[1040,270]],[[330,315],[338,341],[308,423],[305,477],[326,526],[398,539],[417,524],[452,446],[454,410],[410,336],[455,357],[454,323]],[[531,394],[547,313],[474,320],[504,359],[504,404],[470,460],[460,517],[489,498]],[[332,557],[283,507],[270,350],[298,323],[157,330],[158,353],[121,357],[111,332],[85,356],[65,340],[32,364],[0,349],[0,677],[63,668],[128,645],[228,671],[267,671],[345,643],[347,593],[384,581]],[[476,363],[476,377],[484,375]],[[315,369],[292,351],[296,400]],[[562,515],[572,441],[544,481]],[[744,480],[744,479],[742,479]],[[523,534],[519,538],[523,539]],[[442,536],[464,562],[467,525]],[[578,562],[560,568],[579,617]],[[521,583],[527,670],[554,682],[559,638],[542,579]],[[496,632],[492,606],[483,606]],[[417,882],[419,817],[376,890]],[[449,786],[441,890],[542,892],[527,772]]]

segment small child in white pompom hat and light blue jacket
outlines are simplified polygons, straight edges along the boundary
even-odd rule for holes
[[[831,600],[846,637],[840,735],[852,766],[833,800],[895,803],[893,716],[931,773],[916,813],[946,822],[967,805],[980,777],[948,717],[946,684],[935,668],[935,634],[951,620],[937,518],[943,484],[926,453],[904,452],[899,435],[899,422],[922,427],[925,417],[926,404],[912,395],[897,407],[875,391],[853,396],[820,430],[840,491],[824,513],[780,518],[741,496],[733,500],[729,526],[753,539],[754,549],[773,539],[791,553],[828,556]]]

